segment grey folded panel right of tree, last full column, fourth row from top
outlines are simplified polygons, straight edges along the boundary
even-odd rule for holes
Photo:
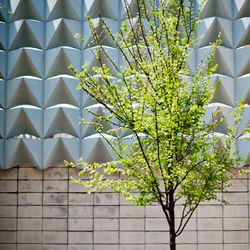
[[[214,76],[213,81],[216,84],[220,80],[220,84],[217,86],[212,102],[222,103],[234,106],[234,79],[227,76]]]

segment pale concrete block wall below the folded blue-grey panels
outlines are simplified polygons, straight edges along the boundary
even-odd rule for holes
[[[0,172],[1,250],[168,249],[159,206],[133,206],[110,192],[88,195],[68,178],[77,171],[18,167]],[[210,202],[198,208],[178,250],[249,250],[249,177],[232,180],[230,193],[221,194],[230,205]]]

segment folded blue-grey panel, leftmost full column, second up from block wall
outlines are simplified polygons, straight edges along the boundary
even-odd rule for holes
[[[40,109],[10,109],[6,116],[7,138],[21,134],[41,136],[42,113]]]

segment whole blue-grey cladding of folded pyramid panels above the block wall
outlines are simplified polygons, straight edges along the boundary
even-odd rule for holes
[[[198,9],[201,0],[195,1]],[[132,11],[132,25],[138,29],[138,8],[128,1]],[[92,70],[100,66],[92,51],[97,51],[85,14],[92,18],[106,53],[121,66],[126,66],[116,45],[105,33],[100,16],[113,32],[119,32],[127,22],[123,0],[1,0],[7,9],[0,8],[0,168],[29,164],[46,168],[63,164],[63,160],[77,161],[82,156],[89,162],[105,162],[114,155],[105,140],[92,127],[79,124],[79,116],[95,122],[93,114],[106,114],[83,91],[77,90],[79,80],[68,68],[77,70],[89,61],[88,68],[101,86],[103,83]],[[145,2],[148,9],[150,1]],[[205,114],[221,110],[216,119],[228,114],[239,98],[243,98],[244,114],[239,132],[249,124],[250,107],[250,1],[206,0],[201,8],[197,48],[190,53],[190,71],[205,56],[210,42],[223,30],[222,43],[215,54],[218,64],[212,83],[220,80]],[[149,27],[145,27],[145,33]],[[92,51],[75,38],[79,33],[90,43]],[[137,40],[141,39],[139,36]],[[111,69],[113,80],[117,71],[105,53],[100,60]],[[90,114],[89,109],[93,114]],[[224,137],[232,117],[216,128]],[[105,132],[113,128],[103,123]],[[119,132],[128,144],[131,131]],[[116,134],[114,134],[116,136]],[[142,135],[143,136],[143,135]],[[238,148],[248,155],[248,144],[240,140]],[[223,140],[221,142],[223,145]],[[40,157],[40,158],[39,158]],[[1,246],[0,246],[1,248]]]

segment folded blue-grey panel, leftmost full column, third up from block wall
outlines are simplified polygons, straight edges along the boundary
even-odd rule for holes
[[[8,81],[7,107],[33,105],[41,107],[42,80],[19,78]]]

